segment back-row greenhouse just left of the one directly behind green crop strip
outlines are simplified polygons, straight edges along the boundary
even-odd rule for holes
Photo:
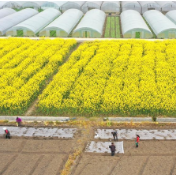
[[[101,9],[103,1],[86,1],[86,3],[82,6],[82,11],[84,13],[88,12],[92,9]]]

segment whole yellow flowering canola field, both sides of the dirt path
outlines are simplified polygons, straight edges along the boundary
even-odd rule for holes
[[[0,41],[1,114],[176,115],[174,40]]]

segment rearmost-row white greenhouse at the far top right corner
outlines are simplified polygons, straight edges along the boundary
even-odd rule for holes
[[[171,10],[176,10],[176,4],[172,1],[156,1],[161,6],[161,11],[167,13]]]

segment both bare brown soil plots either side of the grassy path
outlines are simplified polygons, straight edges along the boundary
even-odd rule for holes
[[[75,140],[0,139],[0,175],[59,175]],[[72,175],[175,175],[176,141],[124,141],[125,154],[83,153]]]

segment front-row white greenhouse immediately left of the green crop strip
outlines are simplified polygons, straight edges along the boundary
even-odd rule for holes
[[[86,13],[82,21],[73,32],[74,37],[100,38],[103,34],[103,27],[106,14],[98,9]]]

